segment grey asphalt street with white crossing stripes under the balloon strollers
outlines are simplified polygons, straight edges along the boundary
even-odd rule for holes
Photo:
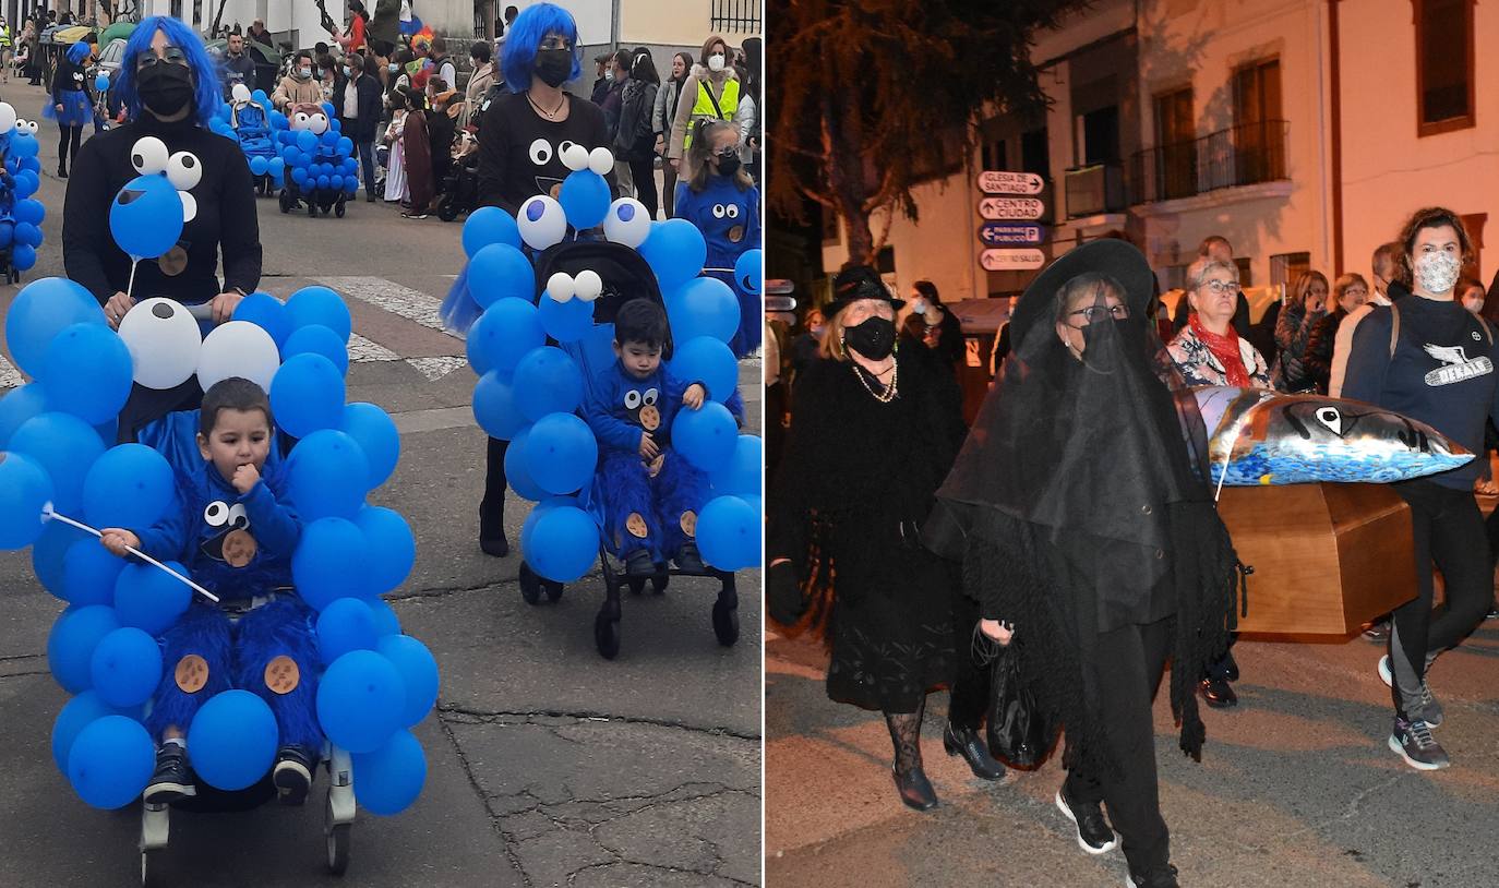
[[[39,87],[12,81],[0,98],[39,117]],[[46,242],[27,280],[61,274],[55,134],[43,120]],[[283,216],[261,200],[259,222],[262,290],[286,297],[325,284],[345,294],[355,333],[348,399],[379,404],[402,429],[400,465],[370,502],[399,510],[415,531],[415,570],[388,600],[442,674],[438,710],[415,730],[426,790],[396,818],[358,816],[342,884],[758,884],[760,574],[739,576],[736,646],[714,638],[717,584],[676,579],[661,596],[627,594],[621,654],[603,660],[597,572],[558,603],[529,606],[520,558],[478,550],[475,378],[463,342],[436,322],[462,266],[459,225],[402,219],[363,192],[345,219]],[[0,315],[13,296],[0,290]],[[758,376],[755,362],[742,364],[755,432]],[[0,386],[18,381],[0,357]],[[513,543],[526,508],[517,498],[507,506]],[[51,760],[52,718],[67,696],[48,675],[45,644],[61,606],[27,552],[0,554],[0,885],[135,885],[139,810],[84,806]],[[322,864],[321,788],[306,808],[177,813],[166,884],[339,884]]]

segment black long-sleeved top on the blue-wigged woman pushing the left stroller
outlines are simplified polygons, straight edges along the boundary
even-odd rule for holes
[[[240,146],[190,123],[160,123],[150,112],[82,144],[63,202],[63,267],[99,303],[124,292],[130,256],[109,234],[109,206],[138,176],[130,164],[136,140],[154,135],[166,148],[192,152],[202,178],[192,188],[198,214],[160,260],[142,260],[135,272],[136,302],[165,296],[183,303],[207,302],[231,288],[253,292],[261,282],[261,230],[255,184]],[[219,254],[223,286],[219,286]],[[186,260],[186,261],[184,261]]]

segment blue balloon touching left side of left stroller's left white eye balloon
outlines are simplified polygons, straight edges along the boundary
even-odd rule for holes
[[[52,410],[99,424],[120,416],[130,374],[130,350],[114,330],[73,324],[46,346],[40,378]]]

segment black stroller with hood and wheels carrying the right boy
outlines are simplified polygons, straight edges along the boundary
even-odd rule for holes
[[[663,303],[663,309],[666,308],[651,266],[646,264],[640,254],[624,244],[603,240],[564,242],[537,256],[535,264],[537,280],[541,286],[546,286],[546,280],[558,272],[573,276],[583,270],[598,273],[604,280],[604,291],[594,303],[595,326],[612,324],[619,306],[631,298],[649,298]],[[573,357],[583,372],[585,386],[591,388],[598,374],[607,366],[604,363],[604,352],[591,354],[582,342],[561,344],[559,346]],[[613,362],[613,356],[607,354],[607,360]],[[594,644],[598,646],[598,652],[606,660],[613,660],[619,654],[619,590],[630,586],[630,591],[639,596],[645,591],[646,580],[649,580],[651,591],[661,594],[673,576],[705,576],[718,580],[718,597],[712,609],[714,634],[718,638],[718,644],[724,646],[732,646],[739,640],[739,594],[735,590],[735,574],[712,567],[694,572],[678,567],[658,567],[657,573],[649,578],[628,576],[624,566],[604,546],[604,507],[600,488],[601,484],[595,476],[592,489],[583,490],[579,496],[583,501],[583,508],[594,516],[600,526],[598,560],[604,576],[604,603],[594,618]],[[562,584],[541,578],[531,566],[522,562],[520,596],[528,604],[538,604],[543,592],[546,592],[549,602],[556,602],[562,597]]]

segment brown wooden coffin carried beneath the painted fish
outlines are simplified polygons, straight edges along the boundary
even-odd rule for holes
[[[1253,568],[1240,632],[1351,634],[1415,597],[1411,507],[1384,484],[1223,488],[1219,513]]]

